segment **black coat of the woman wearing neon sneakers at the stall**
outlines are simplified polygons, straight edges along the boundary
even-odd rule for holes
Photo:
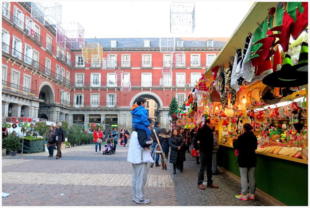
[[[239,151],[237,159],[239,167],[256,167],[257,138],[253,132],[244,132],[232,141],[232,146]]]

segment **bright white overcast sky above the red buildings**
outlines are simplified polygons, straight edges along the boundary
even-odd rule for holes
[[[85,38],[159,38],[162,33],[170,33],[172,2],[182,1],[59,3],[62,5],[61,22],[78,22],[85,30]],[[196,1],[194,32],[175,34],[175,37],[230,37],[252,4]]]

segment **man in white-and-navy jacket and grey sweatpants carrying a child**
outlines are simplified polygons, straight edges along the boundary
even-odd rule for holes
[[[148,119],[150,125],[153,125],[153,120]],[[144,197],[145,184],[148,179],[148,163],[153,163],[154,160],[146,147],[152,145],[149,143],[149,137],[144,130],[135,129],[131,133],[130,145],[128,148],[127,161],[132,165],[132,201],[136,204],[148,204],[150,199]]]

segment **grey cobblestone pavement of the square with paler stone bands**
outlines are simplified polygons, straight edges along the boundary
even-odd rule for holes
[[[214,175],[218,189],[197,188],[199,165],[186,153],[184,171],[150,168],[146,205],[135,204],[131,193],[131,165],[128,147],[117,145],[116,154],[95,154],[94,145],[62,151],[62,158],[49,158],[48,152],[17,154],[2,151],[2,206],[271,206],[260,197],[241,201],[234,198],[241,185],[225,174]],[[21,160],[24,158],[24,160]],[[64,196],[60,196],[64,193]]]

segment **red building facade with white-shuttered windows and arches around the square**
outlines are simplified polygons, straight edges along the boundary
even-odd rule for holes
[[[86,63],[82,49],[61,47],[55,25],[30,12],[31,2],[2,2],[2,117],[132,129],[130,109],[141,96],[156,102],[150,117],[169,128],[171,99],[184,101],[228,40],[176,38],[174,53],[165,53],[160,38],[85,39],[99,42],[104,57]]]

